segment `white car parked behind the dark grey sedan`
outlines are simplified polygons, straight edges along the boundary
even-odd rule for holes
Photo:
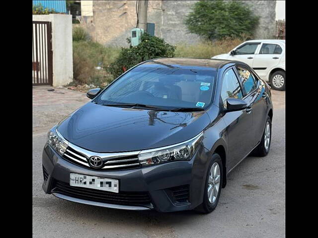
[[[247,63],[276,90],[285,90],[285,40],[245,41],[228,54],[211,59],[239,60]]]

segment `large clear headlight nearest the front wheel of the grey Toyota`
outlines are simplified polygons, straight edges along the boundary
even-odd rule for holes
[[[190,140],[176,145],[143,150],[138,155],[139,162],[142,166],[150,166],[169,161],[190,160],[202,141],[202,138],[203,132]]]

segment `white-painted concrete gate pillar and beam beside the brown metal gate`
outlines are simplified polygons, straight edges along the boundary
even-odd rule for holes
[[[73,81],[72,15],[32,15],[33,21],[52,22],[53,86]]]

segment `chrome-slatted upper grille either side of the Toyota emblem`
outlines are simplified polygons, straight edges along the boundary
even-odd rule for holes
[[[107,153],[105,153],[106,155]],[[91,168],[88,164],[89,158],[77,151],[76,149],[69,146],[63,158],[71,163],[79,165],[81,167],[90,168],[99,171],[113,171],[113,170],[125,170],[125,169],[136,169],[140,168],[141,165],[136,155],[122,156],[116,158],[110,158],[104,161],[103,166],[100,169]]]

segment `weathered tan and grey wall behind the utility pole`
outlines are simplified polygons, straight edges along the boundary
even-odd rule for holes
[[[155,23],[155,35],[167,43],[195,44],[200,37],[187,32],[183,21],[197,0],[150,0],[148,22]],[[275,0],[243,0],[255,15],[260,16],[256,39],[272,38],[275,34]],[[82,16],[81,26],[86,28],[92,39],[104,45],[127,47],[126,38],[136,27],[135,0],[93,1],[93,16]]]

